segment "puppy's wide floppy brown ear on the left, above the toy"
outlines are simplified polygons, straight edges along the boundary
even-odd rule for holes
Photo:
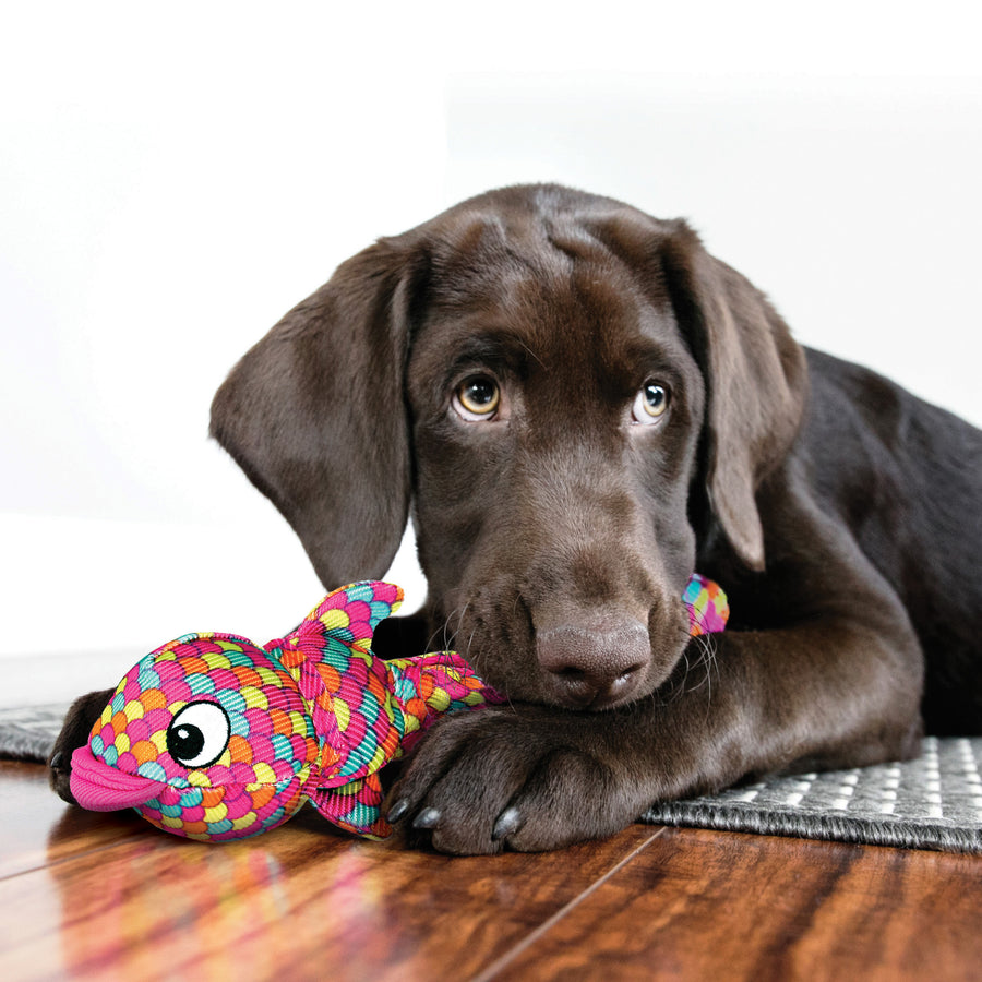
[[[212,435],[284,514],[328,589],[384,575],[406,527],[412,260],[399,240],[348,260],[212,403]]]

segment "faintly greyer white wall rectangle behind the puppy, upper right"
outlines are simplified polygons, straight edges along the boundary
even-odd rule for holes
[[[447,133],[452,197],[543,175],[685,217],[800,340],[982,423],[978,81],[469,75]]]

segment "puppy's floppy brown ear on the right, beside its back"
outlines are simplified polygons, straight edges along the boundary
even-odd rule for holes
[[[801,424],[807,391],[804,352],[756,287],[709,255],[684,221],[667,226],[664,273],[708,388],[709,507],[740,559],[763,570],[755,493],[788,453]]]

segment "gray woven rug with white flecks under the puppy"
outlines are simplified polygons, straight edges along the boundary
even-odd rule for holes
[[[0,757],[43,763],[67,705],[0,709]],[[660,802],[642,821],[870,846],[982,853],[982,738],[924,740],[902,764],[773,778]]]

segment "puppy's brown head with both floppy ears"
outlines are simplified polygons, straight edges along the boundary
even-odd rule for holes
[[[326,587],[383,575],[411,506],[441,640],[512,698],[602,708],[679,661],[699,537],[763,568],[755,491],[804,388],[783,322],[684,223],[534,185],[343,264],[212,430]]]

